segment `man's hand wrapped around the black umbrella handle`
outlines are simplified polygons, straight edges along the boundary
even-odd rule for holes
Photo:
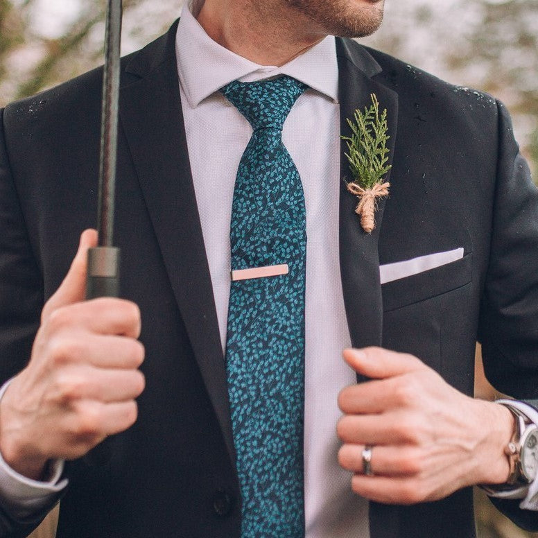
[[[1,400],[0,451],[28,478],[44,478],[49,460],[79,458],[137,419],[140,312],[125,300],[83,301],[87,250],[96,240],[94,230],[80,236],[67,276],[42,311],[31,360]]]

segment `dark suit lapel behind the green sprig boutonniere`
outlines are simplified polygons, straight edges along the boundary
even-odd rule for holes
[[[365,49],[337,40],[340,88],[340,129],[349,134],[347,118],[352,119],[357,108],[364,110],[371,104],[370,94],[376,94],[380,108],[387,109],[390,139],[388,154],[392,163],[396,142],[398,100],[391,89],[377,83],[373,76],[381,71],[379,65]],[[351,180],[345,141],[341,142],[340,176]],[[390,175],[390,174],[389,174]],[[390,179],[390,177],[389,177]],[[361,228],[355,214],[357,198],[340,186],[340,272],[344,291],[345,310],[349,333],[354,347],[381,345],[383,308],[379,281],[379,255],[377,245],[383,223],[385,199],[379,201],[376,227],[372,234]]]

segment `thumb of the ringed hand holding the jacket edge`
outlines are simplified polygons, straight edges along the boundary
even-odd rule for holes
[[[400,376],[426,367],[413,355],[391,352],[381,347],[344,349],[343,356],[355,372],[372,379]]]

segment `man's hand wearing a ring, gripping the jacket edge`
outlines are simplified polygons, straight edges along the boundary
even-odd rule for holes
[[[354,473],[354,492],[410,504],[507,480],[504,449],[514,429],[507,408],[467,397],[411,355],[371,347],[347,349],[344,358],[371,379],[338,397],[338,460]],[[363,474],[366,445],[374,447],[370,476]]]

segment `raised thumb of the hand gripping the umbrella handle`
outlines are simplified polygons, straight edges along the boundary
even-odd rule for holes
[[[85,229],[80,234],[80,243],[71,267],[65,275],[62,284],[54,295],[46,302],[41,320],[46,319],[55,309],[84,300],[86,290],[87,252],[89,248],[97,245],[97,231]]]

